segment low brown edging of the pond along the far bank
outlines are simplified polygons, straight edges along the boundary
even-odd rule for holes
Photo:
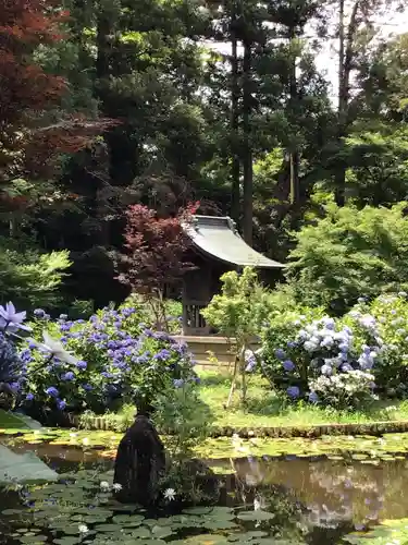
[[[77,428],[90,431],[116,431],[118,422],[111,417],[96,416],[89,419],[86,425],[81,424],[81,417],[73,415],[72,424]],[[272,427],[233,427],[218,426],[210,432],[211,438],[232,437],[237,435],[243,438],[252,437],[271,437],[271,438],[289,438],[305,437],[314,438],[323,435],[372,435],[381,436],[384,434],[398,434],[408,432],[408,421],[387,421],[387,422],[368,422],[363,424],[319,424],[312,426],[272,426]],[[162,432],[165,435],[165,432]]]

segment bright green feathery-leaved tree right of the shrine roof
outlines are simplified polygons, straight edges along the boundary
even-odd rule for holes
[[[342,315],[361,294],[407,289],[406,207],[329,205],[324,218],[295,234],[287,278],[297,301]]]

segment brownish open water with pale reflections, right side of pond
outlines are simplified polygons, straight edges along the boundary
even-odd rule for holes
[[[357,526],[408,517],[408,461],[361,462],[307,459],[234,461],[239,479],[254,485],[282,486],[310,510],[310,521]]]

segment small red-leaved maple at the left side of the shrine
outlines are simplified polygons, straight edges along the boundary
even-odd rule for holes
[[[158,323],[166,324],[163,296],[165,289],[180,281],[194,266],[186,251],[190,240],[183,225],[189,222],[199,203],[180,209],[177,216],[161,218],[143,205],[126,210],[125,253],[120,255],[119,280],[151,303]]]

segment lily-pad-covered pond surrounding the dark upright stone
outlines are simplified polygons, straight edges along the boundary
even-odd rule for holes
[[[3,486],[0,543],[326,545],[346,543],[350,532],[383,520],[408,518],[404,456],[375,463],[364,456],[207,460],[223,475],[219,506],[150,513],[112,499],[103,484],[113,475],[107,450],[54,443],[0,436],[0,444],[35,453],[59,474],[41,485]]]

